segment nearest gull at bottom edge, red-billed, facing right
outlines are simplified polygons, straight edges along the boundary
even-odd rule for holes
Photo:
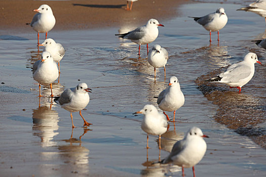
[[[203,138],[209,138],[203,135],[202,130],[198,127],[192,127],[186,133],[183,140],[177,141],[171,153],[161,163],[173,163],[182,167],[182,175],[184,176],[184,168],[193,169],[193,176],[195,177],[194,166],[203,158],[207,145]]]

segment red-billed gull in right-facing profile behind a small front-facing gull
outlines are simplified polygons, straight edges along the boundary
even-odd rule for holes
[[[140,26],[133,31],[129,31],[124,34],[115,34],[119,37],[130,39],[132,42],[135,42],[139,45],[138,47],[138,55],[140,55],[140,45],[147,45],[147,53],[148,53],[148,43],[153,42],[158,34],[158,26],[164,26],[160,24],[156,19],[149,19],[147,24],[144,26]]]

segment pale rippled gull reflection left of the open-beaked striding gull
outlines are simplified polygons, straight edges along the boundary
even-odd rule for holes
[[[50,109],[48,106],[42,106],[33,109],[32,113],[33,126],[35,136],[41,138],[42,147],[56,146],[57,143],[53,141],[54,137],[58,135],[56,132],[59,128],[58,113]]]

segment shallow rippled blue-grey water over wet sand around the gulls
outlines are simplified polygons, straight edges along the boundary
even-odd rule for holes
[[[192,126],[210,137],[206,155],[195,167],[197,176],[265,174],[265,150],[260,147],[265,145],[265,51],[250,41],[264,34],[264,19],[235,11],[241,5],[223,4],[229,22],[220,30],[220,42],[213,33],[210,45],[208,32],[187,16],[202,16],[220,6],[183,5],[178,7],[179,17],[158,19],[165,27],[159,28],[159,37],[149,49],[159,44],[170,58],[166,79],[161,68],[156,82],[145,46],[138,58],[137,45],[114,35],[118,28],[49,32],[48,37],[66,50],[60,63],[60,82],[53,84],[53,93],[60,95],[79,82],[89,85],[91,100],[82,111],[93,123],[88,129],[82,127],[78,113],[73,113],[77,128],[72,130],[69,112],[56,105],[50,109],[49,87],[42,91],[46,97],[41,98],[39,107],[38,86],[30,69],[40,59],[35,33],[14,33],[21,38],[1,40],[0,82],[5,82],[0,86],[1,175],[181,176],[177,166],[151,162],[158,161],[159,153],[161,159],[166,157]],[[5,31],[1,35],[6,35]],[[263,66],[255,65],[255,74],[242,94],[202,81],[225,69],[221,67],[243,60],[248,52],[255,52]],[[161,152],[158,137],[153,136],[147,152],[146,135],[140,128],[142,116],[132,113],[145,104],[157,106],[154,96],[167,87],[170,76],[178,77],[185,104],[177,111],[175,125],[170,123],[170,130],[163,135]],[[242,131],[250,132],[247,135],[252,139],[235,130],[244,135]],[[192,169],[185,169],[185,174],[193,176]]]

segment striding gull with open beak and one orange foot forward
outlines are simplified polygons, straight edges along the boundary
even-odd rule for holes
[[[83,126],[92,125],[92,123],[87,122],[81,114],[81,110],[84,109],[90,101],[88,92],[91,93],[91,89],[88,88],[88,85],[86,83],[80,83],[73,88],[64,90],[60,97],[55,97],[54,99],[57,104],[61,105],[61,108],[70,112],[72,128],[75,127],[73,124],[72,112],[77,111],[80,111],[80,115],[84,120]]]

